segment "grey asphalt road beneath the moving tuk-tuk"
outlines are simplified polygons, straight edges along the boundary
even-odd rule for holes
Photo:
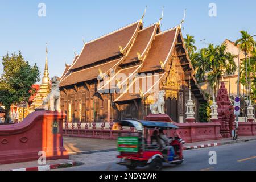
[[[209,164],[209,152],[215,151],[217,155],[217,164]],[[108,152],[113,156],[117,152]],[[92,155],[92,154],[91,154]],[[102,158],[100,162],[95,164],[84,164],[71,168],[63,168],[59,170],[79,170],[79,171],[123,171],[127,170],[125,166],[115,164],[118,159],[103,157],[104,154],[94,154],[98,158]],[[113,160],[115,159],[115,160]],[[163,170],[166,171],[226,171],[226,170],[249,170],[256,171],[256,141],[228,144],[224,146],[216,146],[209,148],[201,148],[197,150],[184,151],[184,162],[181,165],[163,164]],[[138,167],[136,170],[148,170],[148,167]]]

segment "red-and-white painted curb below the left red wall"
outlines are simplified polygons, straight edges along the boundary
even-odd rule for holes
[[[44,166],[19,168],[19,169],[13,169],[11,171],[49,171],[51,169],[72,167],[72,166],[75,166],[75,164],[76,162],[67,162],[67,163],[60,163],[60,164],[49,164]]]

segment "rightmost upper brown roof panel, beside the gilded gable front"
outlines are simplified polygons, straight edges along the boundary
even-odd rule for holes
[[[141,72],[155,71],[161,68],[159,61],[164,63],[166,60],[168,53],[171,50],[172,43],[175,41],[175,32],[176,28],[155,36],[150,51],[144,60],[144,66],[141,69]]]

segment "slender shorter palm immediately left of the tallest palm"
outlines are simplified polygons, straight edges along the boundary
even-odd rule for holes
[[[226,53],[226,65],[225,65],[225,69],[226,69],[226,74],[229,75],[229,98],[230,98],[230,92],[231,92],[231,75],[236,73],[237,71],[237,65],[234,61],[234,58],[237,57],[236,55],[232,55],[232,53],[227,52]]]

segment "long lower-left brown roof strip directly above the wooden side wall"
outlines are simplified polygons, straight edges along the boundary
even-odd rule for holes
[[[82,69],[81,71],[70,73],[66,78],[61,80],[60,87],[77,84],[79,82],[94,80],[97,78],[100,68],[102,72],[107,72],[110,68],[112,68],[115,64],[118,63],[120,59],[110,61],[105,64],[97,65],[96,67]]]

